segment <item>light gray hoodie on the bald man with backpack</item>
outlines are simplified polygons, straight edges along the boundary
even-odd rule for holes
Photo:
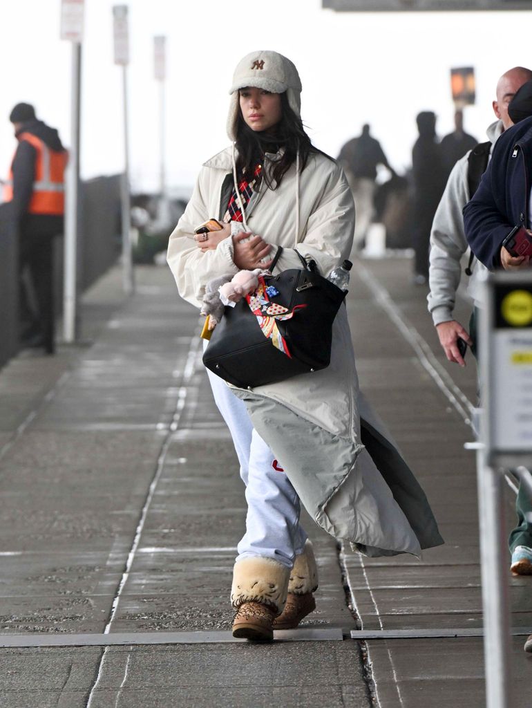
[[[487,129],[487,137],[493,146],[502,134],[502,120],[496,120]],[[468,250],[463,230],[463,207],[470,200],[468,188],[469,152],[453,167],[441,201],[439,202],[430,234],[429,286],[427,296],[429,312],[434,326],[454,319],[453,309],[456,291],[462,272],[461,258]],[[468,295],[476,307],[481,306],[479,279],[486,270],[480,261],[473,261],[473,275],[469,276]]]

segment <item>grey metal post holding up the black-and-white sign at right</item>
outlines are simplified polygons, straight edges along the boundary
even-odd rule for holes
[[[511,666],[504,475],[477,453],[486,708],[511,708]]]

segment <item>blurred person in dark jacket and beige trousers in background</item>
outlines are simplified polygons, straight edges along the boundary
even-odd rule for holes
[[[385,166],[393,176],[395,171],[388,164],[380,142],[369,135],[367,123],[362,126],[359,137],[352,138],[342,147],[338,162],[345,170],[357,212],[353,239],[353,252],[356,252],[362,246],[374,215],[377,167]]]

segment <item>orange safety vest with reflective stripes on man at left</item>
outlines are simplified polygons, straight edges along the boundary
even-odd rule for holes
[[[37,152],[33,195],[28,213],[64,214],[64,170],[67,166],[67,151],[51,150],[45,142],[29,132],[23,132],[17,137],[19,140],[29,142]],[[4,183],[4,202],[11,202],[11,200],[13,200],[13,166],[9,170],[8,180]]]

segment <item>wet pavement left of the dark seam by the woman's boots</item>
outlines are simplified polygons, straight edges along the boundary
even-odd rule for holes
[[[2,707],[369,706],[359,645],[342,641],[357,625],[337,544],[310,520],[321,582],[305,625],[335,639],[226,643],[238,465],[196,310],[166,268],[137,277],[130,300],[118,272],[88,294],[92,346],[26,353],[0,373],[1,632],[37,635],[0,649]],[[137,634],[83,646],[103,632]],[[154,632],[178,643],[145,644]],[[80,646],[42,646],[50,634]]]

